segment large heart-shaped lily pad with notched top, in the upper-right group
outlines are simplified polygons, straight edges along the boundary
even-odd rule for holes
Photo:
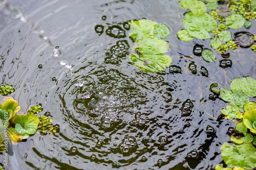
[[[191,12],[185,14],[183,25],[191,37],[197,39],[208,39],[208,32],[217,26],[217,21],[208,13],[196,16]]]

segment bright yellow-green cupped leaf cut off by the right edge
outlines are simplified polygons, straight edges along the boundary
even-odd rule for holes
[[[256,134],[256,110],[246,111],[243,116],[245,126],[251,133]]]

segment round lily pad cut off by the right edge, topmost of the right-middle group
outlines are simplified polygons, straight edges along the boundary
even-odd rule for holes
[[[254,96],[256,96],[256,81],[248,76],[246,78],[244,77],[241,80],[240,89],[244,94],[253,98]]]

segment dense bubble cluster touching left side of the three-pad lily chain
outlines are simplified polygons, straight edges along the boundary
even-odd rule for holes
[[[129,44],[126,40],[119,40],[116,42],[116,45],[113,45],[110,50],[106,51],[105,58],[106,63],[117,64],[118,59],[125,57],[129,54]]]

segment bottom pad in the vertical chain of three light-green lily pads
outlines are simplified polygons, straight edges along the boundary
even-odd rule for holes
[[[158,72],[168,67],[172,63],[172,58],[163,54],[132,54],[130,56],[132,64],[146,72]]]

